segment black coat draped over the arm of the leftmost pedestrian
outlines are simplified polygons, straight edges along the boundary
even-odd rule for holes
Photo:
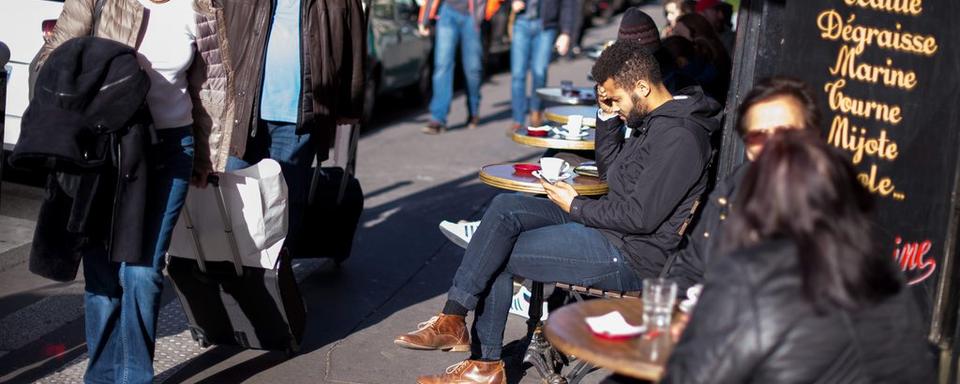
[[[56,172],[37,218],[31,272],[72,280],[81,256],[108,250],[116,262],[149,261],[142,249],[149,88],[136,51],[103,38],[69,40],[41,68],[10,159]]]

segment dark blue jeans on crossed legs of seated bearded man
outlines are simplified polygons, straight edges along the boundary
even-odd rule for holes
[[[550,200],[498,195],[470,239],[447,293],[447,299],[476,310],[471,339],[474,352],[484,359],[500,358],[514,276],[616,290],[642,285],[600,231],[570,221]]]

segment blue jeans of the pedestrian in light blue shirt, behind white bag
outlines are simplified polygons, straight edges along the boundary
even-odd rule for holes
[[[297,134],[294,123],[260,120],[257,135],[247,141],[247,150],[243,159],[227,159],[227,171],[249,167],[263,159],[273,159],[280,163],[283,179],[287,182],[287,203],[289,207],[287,239],[288,249],[292,249],[300,236],[303,213],[307,209],[310,194],[313,160],[317,155],[317,146],[309,133]]]

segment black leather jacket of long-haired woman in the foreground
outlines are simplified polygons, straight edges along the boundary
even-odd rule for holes
[[[815,308],[802,280],[790,240],[715,255],[660,383],[936,382],[922,313],[906,287],[848,311]]]

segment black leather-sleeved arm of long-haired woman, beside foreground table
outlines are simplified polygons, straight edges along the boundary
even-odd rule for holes
[[[661,384],[749,382],[767,353],[746,271],[732,259],[711,268]]]

